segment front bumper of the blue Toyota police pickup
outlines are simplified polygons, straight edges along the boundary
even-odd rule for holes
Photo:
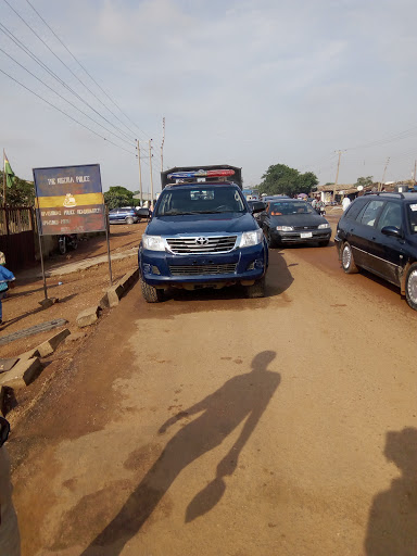
[[[192,289],[194,286],[218,288],[233,283],[249,286],[264,276],[267,263],[267,247],[264,242],[215,254],[178,255],[139,248],[139,269],[142,278],[147,283],[164,289]]]

